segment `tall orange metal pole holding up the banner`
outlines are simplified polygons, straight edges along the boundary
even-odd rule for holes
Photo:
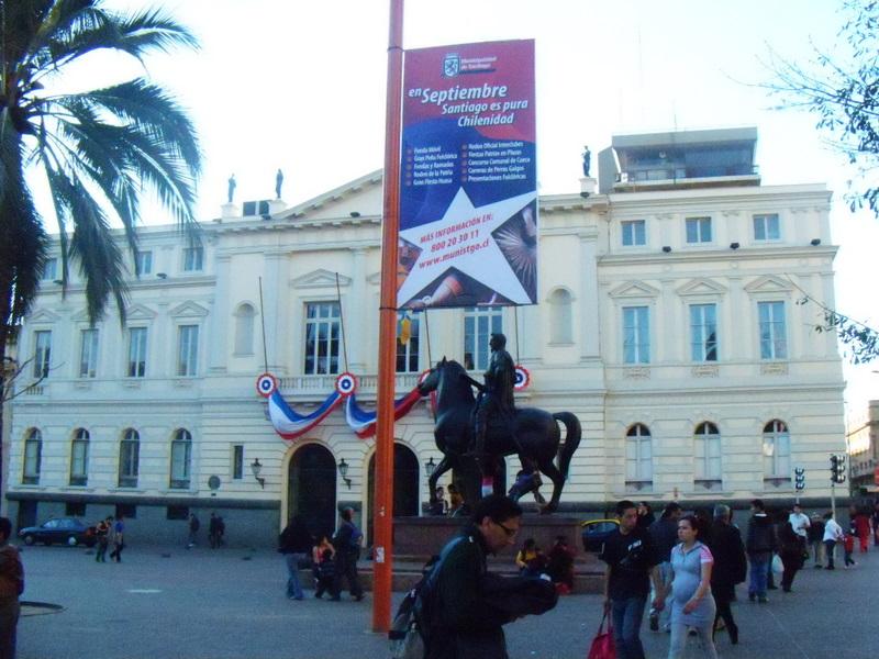
[[[388,90],[385,115],[385,210],[381,230],[381,301],[376,420],[376,533],[372,560],[372,630],[391,623],[393,577],[393,396],[397,371],[397,233],[400,227],[400,123],[403,87],[403,0],[390,0]]]

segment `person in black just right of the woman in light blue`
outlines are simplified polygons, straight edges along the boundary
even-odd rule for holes
[[[747,557],[742,543],[742,533],[731,524],[730,506],[722,503],[714,506],[714,526],[708,539],[709,549],[714,557],[711,570],[711,594],[717,613],[714,616],[714,629],[717,622],[723,621],[730,643],[738,643],[738,625],[733,618],[730,604],[735,601],[735,587],[743,583],[747,574]]]

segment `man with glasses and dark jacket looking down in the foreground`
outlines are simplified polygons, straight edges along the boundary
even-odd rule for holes
[[[507,659],[502,626],[516,616],[492,603],[486,556],[515,543],[521,516],[514,501],[486,496],[463,535],[443,549],[430,604],[426,659]]]

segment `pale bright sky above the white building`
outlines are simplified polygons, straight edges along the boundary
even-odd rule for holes
[[[299,203],[383,163],[388,0],[108,0],[123,12],[164,7],[199,37],[142,66],[96,55],[58,85],[97,87],[146,72],[191,113],[204,153],[198,212],[219,216],[226,180],[236,200]],[[834,52],[843,15],[832,0],[408,0],[404,47],[534,38],[541,193],[578,192],[580,153],[611,135],[755,125],[763,185],[825,182],[836,257],[836,306],[879,327],[866,273],[879,220],[842,201],[845,159],[814,116],[774,108],[759,85],[772,53],[805,63]],[[147,205],[144,221],[168,223]],[[846,365],[850,410],[879,398],[879,362]]]

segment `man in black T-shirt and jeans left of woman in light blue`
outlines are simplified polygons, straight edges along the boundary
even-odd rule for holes
[[[624,500],[616,504],[620,526],[608,536],[599,559],[604,570],[604,613],[611,614],[613,639],[619,659],[644,659],[641,623],[650,592],[650,580],[657,593],[653,602],[661,611],[665,588],[659,582],[657,555],[650,534],[637,525],[637,507]]]

